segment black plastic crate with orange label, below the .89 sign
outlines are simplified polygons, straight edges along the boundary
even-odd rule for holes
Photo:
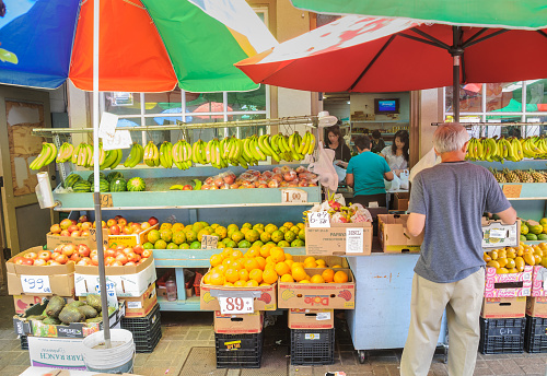
[[[260,368],[263,333],[214,333],[217,368]]]

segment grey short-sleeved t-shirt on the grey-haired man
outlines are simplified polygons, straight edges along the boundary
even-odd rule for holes
[[[426,215],[415,272],[432,282],[459,281],[485,265],[481,215],[511,207],[493,175],[468,162],[441,163],[412,180],[408,211]]]

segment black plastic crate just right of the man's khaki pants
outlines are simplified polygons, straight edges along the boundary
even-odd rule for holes
[[[524,351],[526,319],[480,318],[479,351],[482,354],[519,354]]]

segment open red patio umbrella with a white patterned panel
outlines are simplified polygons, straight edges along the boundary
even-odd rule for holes
[[[453,60],[459,69],[453,69]],[[314,92],[399,92],[454,84],[458,93],[461,83],[547,78],[545,61],[547,28],[348,15],[235,66],[255,83]]]

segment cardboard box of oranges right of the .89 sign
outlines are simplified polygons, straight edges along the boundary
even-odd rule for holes
[[[310,277],[325,269],[305,269]],[[278,281],[279,308],[356,308],[356,280],[350,269],[337,269],[348,273],[346,283],[299,283]]]

